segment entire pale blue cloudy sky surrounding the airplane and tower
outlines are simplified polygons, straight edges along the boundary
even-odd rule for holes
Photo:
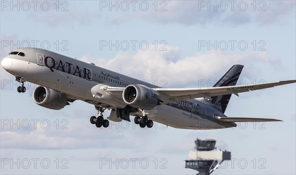
[[[239,84],[296,79],[296,1],[0,1],[0,58],[37,47],[94,62],[163,87],[211,87],[233,65]],[[283,122],[237,123],[220,130],[96,128],[94,106],[62,110],[34,103],[36,85],[18,93],[0,68],[0,174],[194,175],[185,169],[194,140],[231,151],[213,175],[296,174],[296,85],[232,96],[229,117]],[[106,110],[104,117],[110,111]],[[133,118],[133,117],[131,117]]]

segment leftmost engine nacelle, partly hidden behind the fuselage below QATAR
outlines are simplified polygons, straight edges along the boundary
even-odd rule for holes
[[[38,105],[54,110],[60,110],[68,104],[65,93],[47,87],[37,87],[33,99]]]

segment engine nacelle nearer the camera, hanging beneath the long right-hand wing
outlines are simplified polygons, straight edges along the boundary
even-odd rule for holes
[[[150,110],[156,105],[160,105],[157,91],[143,85],[125,87],[122,98],[126,104],[134,108]]]

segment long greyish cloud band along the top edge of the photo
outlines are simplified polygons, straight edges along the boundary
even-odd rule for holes
[[[107,1],[106,1],[107,2]],[[146,1],[147,2],[147,1]],[[108,2],[102,7],[100,1],[88,3],[88,10],[83,9],[81,2],[67,2],[68,11],[55,10],[51,4],[49,11],[29,11],[27,19],[37,23],[45,23],[50,27],[57,26],[87,26],[87,25],[121,25],[132,20],[145,20],[152,23],[180,25],[230,25],[239,26],[249,23],[271,25],[284,23],[285,17],[295,15],[295,1],[205,1],[205,0],[172,0],[157,3],[148,1],[148,10],[143,10],[140,3],[136,8],[132,3],[125,11],[121,2]],[[105,1],[104,1],[105,3]],[[93,8],[93,7],[97,8]],[[111,7],[110,7],[111,6]],[[62,6],[60,5],[60,8]],[[111,8],[111,10],[110,10]],[[156,10],[155,10],[156,9]],[[294,11],[293,11],[294,10]]]

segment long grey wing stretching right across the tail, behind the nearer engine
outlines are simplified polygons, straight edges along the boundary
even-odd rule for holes
[[[254,85],[239,85],[239,86],[227,86],[227,87],[208,87],[208,88],[152,88],[157,91],[162,97],[162,104],[169,103],[171,101],[189,100],[193,98],[208,98],[212,99],[212,96],[235,94],[248,92],[252,90],[264,89],[269,87],[275,87],[280,85],[286,85],[296,83],[296,80],[280,81],[272,83],[254,84]],[[104,87],[104,90],[111,93],[114,97],[122,99],[122,92],[124,87]]]

